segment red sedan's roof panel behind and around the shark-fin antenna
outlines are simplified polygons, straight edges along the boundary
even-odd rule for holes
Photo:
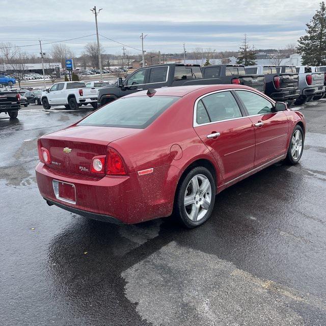
[[[157,88],[157,89],[155,89],[155,91],[156,91],[155,95],[183,97],[183,96],[185,96],[185,95],[187,95],[189,93],[192,93],[192,92],[195,92],[195,91],[198,91],[198,90],[202,90],[203,94],[205,94],[205,93],[220,91],[220,90],[225,90],[225,89],[249,89],[249,90],[252,90],[252,88],[250,88],[248,86],[231,85],[231,84],[225,84],[225,85],[189,85],[189,86],[175,86],[175,87]],[[145,96],[146,93],[147,93],[147,90],[132,93],[132,94],[126,95],[124,97]]]

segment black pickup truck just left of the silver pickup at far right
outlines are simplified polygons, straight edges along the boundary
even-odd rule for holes
[[[275,101],[283,101],[290,107],[300,96],[298,88],[298,73],[285,71],[277,72],[276,66],[247,66],[248,74],[263,74],[265,77],[265,94]]]

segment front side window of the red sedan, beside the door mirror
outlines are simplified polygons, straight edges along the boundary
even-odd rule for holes
[[[263,98],[262,96],[253,92],[235,91],[239,96],[250,116],[271,113],[273,111],[273,104]]]

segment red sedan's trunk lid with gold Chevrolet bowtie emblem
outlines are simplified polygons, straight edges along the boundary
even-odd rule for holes
[[[94,156],[106,155],[107,145],[141,129],[74,126],[40,138],[41,147],[50,154],[48,166],[68,173],[94,175],[91,164]]]

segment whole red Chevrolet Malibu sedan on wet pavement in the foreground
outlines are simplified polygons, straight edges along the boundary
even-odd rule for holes
[[[246,86],[160,88],[120,98],[38,140],[36,178],[49,205],[138,223],[196,227],[215,195],[303,152],[305,119]]]

